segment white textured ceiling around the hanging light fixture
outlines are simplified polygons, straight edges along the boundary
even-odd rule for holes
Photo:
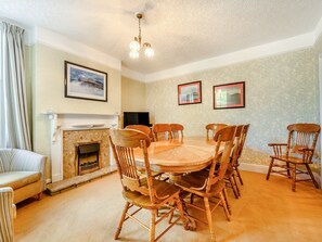
[[[40,26],[151,74],[311,33],[321,0],[1,0],[0,17]],[[143,41],[155,56],[129,59],[144,12]]]

